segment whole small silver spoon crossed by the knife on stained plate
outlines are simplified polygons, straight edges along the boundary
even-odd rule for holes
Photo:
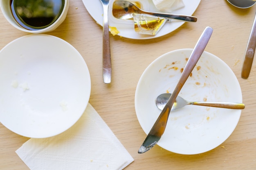
[[[155,104],[157,105],[158,109],[164,109],[167,101],[171,97],[171,93],[163,93],[157,96],[155,100]],[[186,101],[184,98],[177,96],[171,111],[180,109],[186,105],[198,105],[198,106],[209,106],[209,107],[220,107],[226,109],[244,109],[245,104],[243,103],[231,103],[231,102],[189,102]]]

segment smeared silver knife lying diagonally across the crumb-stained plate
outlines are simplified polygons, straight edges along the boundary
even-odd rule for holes
[[[173,103],[175,102],[176,97],[178,96],[180,90],[188,79],[190,73],[192,72],[202,53],[204,52],[204,49],[211,37],[212,32],[213,29],[209,26],[204,29],[202,35],[198,39],[198,42],[195,44],[195,48],[191,52],[189,60],[184,67],[177,86],[175,87],[173,93],[171,94],[171,97],[169,98],[164,109],[157,118],[155,124],[148,133],[143,144],[139,148],[138,153],[145,153],[146,151],[150,150],[151,148],[153,148],[153,146],[155,146],[155,144],[157,144],[159,139],[162,137],[166,128],[168,116],[170,114],[171,108],[173,107]]]

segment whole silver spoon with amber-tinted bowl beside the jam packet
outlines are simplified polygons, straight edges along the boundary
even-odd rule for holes
[[[176,19],[176,20],[183,20],[187,22],[196,22],[197,17],[189,16],[189,15],[177,15],[177,14],[170,14],[170,13],[153,13],[147,12],[139,9],[135,4],[132,4],[126,0],[117,0],[113,3],[112,14],[114,17],[118,19],[131,19],[133,18],[132,14],[148,14],[154,15],[158,17],[165,17],[167,19]]]

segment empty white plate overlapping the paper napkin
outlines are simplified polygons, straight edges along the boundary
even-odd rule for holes
[[[50,137],[69,129],[90,98],[83,57],[51,35],[27,35],[5,46],[0,81],[0,122],[26,137]]]

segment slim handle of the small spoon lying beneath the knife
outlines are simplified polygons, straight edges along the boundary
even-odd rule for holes
[[[245,104],[231,102],[191,102],[191,105],[220,107],[226,109],[245,109]]]

